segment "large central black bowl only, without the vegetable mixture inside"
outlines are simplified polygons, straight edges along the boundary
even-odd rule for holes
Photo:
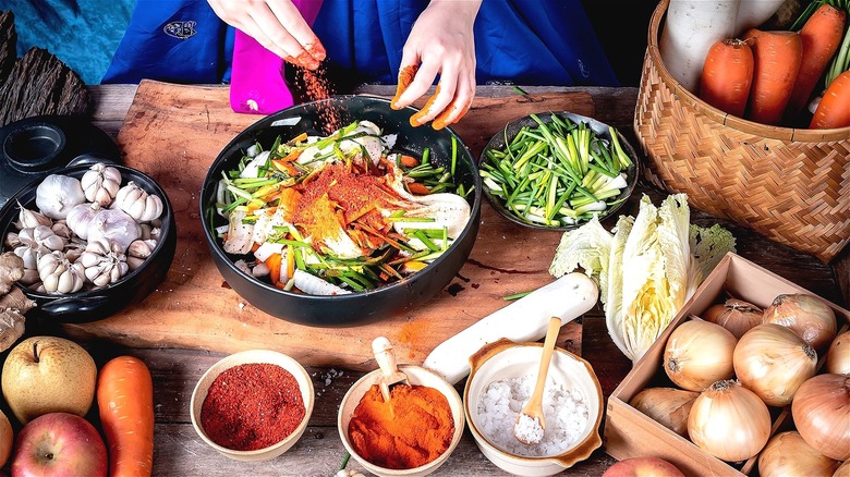
[[[272,144],[277,136],[283,138],[307,132],[326,135],[321,123],[328,108],[339,111],[340,124],[355,120],[368,120],[377,124],[384,134],[398,134],[394,150],[420,157],[430,148],[432,162],[448,166],[451,160],[452,136],[457,138],[458,157],[456,180],[463,183],[470,194],[471,217],[452,246],[423,270],[398,282],[366,292],[344,295],[315,296],[277,289],[235,267],[241,256],[224,253],[212,230],[227,221],[215,213],[216,187],[222,173],[235,168],[245,149],[259,142]],[[430,126],[413,127],[410,117],[413,108],[392,110],[389,101],[368,96],[338,96],[284,109],[266,117],[240,133],[218,155],[209,168],[201,189],[201,218],[204,236],[218,267],[230,286],[258,309],[287,321],[314,327],[351,327],[378,321],[422,305],[448,285],[463,267],[478,233],[481,213],[481,179],[475,159],[466,145],[450,129],[435,131]],[[301,118],[294,125],[276,122]]]

